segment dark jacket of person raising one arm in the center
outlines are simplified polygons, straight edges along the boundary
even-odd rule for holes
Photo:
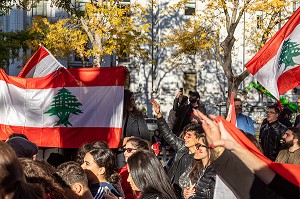
[[[166,120],[164,118],[157,119],[157,125],[159,128],[160,133],[162,134],[165,141],[175,150],[175,157],[173,160],[173,164],[168,171],[168,176],[173,183],[174,176],[178,171],[179,161],[180,159],[189,152],[188,148],[184,145],[184,140],[177,137],[174,133],[172,133],[171,129],[169,128]],[[180,171],[183,173],[184,171]]]

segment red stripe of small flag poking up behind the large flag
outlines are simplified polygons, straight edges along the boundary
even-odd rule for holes
[[[48,55],[49,52],[43,46],[40,46],[39,49],[25,64],[18,77],[25,77],[42,59],[44,59]]]

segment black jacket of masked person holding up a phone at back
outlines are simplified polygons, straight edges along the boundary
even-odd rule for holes
[[[169,124],[173,133],[179,135],[183,128],[191,123],[191,114],[193,112],[193,107],[191,104],[178,106],[178,98],[175,98],[173,103],[173,111],[172,117],[169,117]],[[203,114],[206,115],[206,109],[204,105],[200,104],[196,109],[201,111]]]

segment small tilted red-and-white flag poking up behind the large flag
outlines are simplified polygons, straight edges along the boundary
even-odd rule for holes
[[[42,45],[25,64],[18,77],[44,77],[64,66]]]

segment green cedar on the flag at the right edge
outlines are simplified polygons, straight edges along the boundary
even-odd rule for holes
[[[291,39],[288,39],[283,42],[281,54],[279,57],[278,68],[281,68],[284,64],[284,70],[289,66],[299,65],[294,62],[293,58],[300,55],[300,48],[298,48],[299,44],[297,42],[291,42]]]

